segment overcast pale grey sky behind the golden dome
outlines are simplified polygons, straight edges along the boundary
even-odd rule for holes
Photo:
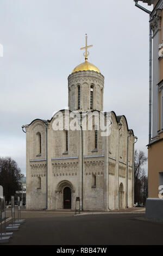
[[[85,33],[89,62],[105,77],[104,110],[126,115],[147,155],[148,20],[133,0],[1,0],[0,156],[26,174],[21,126],[68,105],[67,77],[84,61]]]

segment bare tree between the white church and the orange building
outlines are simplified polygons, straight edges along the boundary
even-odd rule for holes
[[[148,191],[148,178],[145,175],[143,165],[147,162],[147,157],[143,151],[137,152],[135,150],[135,186],[134,186],[134,201],[135,203],[145,203],[147,191]],[[144,182],[144,183],[143,183]]]

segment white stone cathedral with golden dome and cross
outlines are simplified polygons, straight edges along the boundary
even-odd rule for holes
[[[92,45],[91,45],[92,46]],[[109,211],[133,206],[134,142],[124,115],[103,112],[104,76],[87,61],[68,76],[68,111],[62,109],[51,120],[35,119],[22,126],[27,140],[27,209],[72,209],[80,197],[82,210]],[[56,130],[58,118],[63,125],[72,113],[78,113],[78,130]],[[85,113],[85,117],[83,117]],[[87,113],[95,113],[92,130],[87,126]],[[111,132],[102,135],[96,115],[103,113]],[[86,121],[83,129],[82,121]]]

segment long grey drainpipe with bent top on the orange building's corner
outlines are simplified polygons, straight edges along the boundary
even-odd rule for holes
[[[152,29],[150,26],[152,11],[149,11],[146,8],[142,7],[140,4],[137,4],[139,0],[134,0],[134,1],[135,1],[135,6],[137,8],[149,14],[149,143],[150,143],[152,138]]]

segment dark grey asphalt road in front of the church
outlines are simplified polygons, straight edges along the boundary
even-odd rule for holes
[[[163,224],[143,214],[52,214],[28,216],[8,245],[163,245]]]

